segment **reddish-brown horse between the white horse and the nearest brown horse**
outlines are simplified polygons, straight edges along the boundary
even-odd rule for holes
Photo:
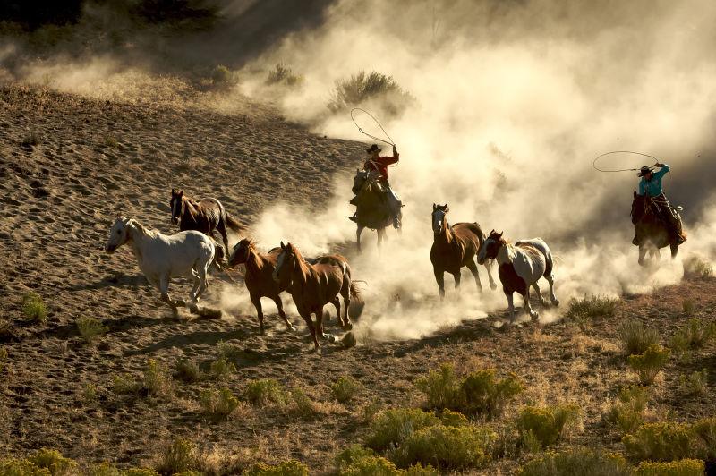
[[[295,330],[294,325],[286,318],[284,305],[279,295],[282,291],[286,291],[286,289],[278,285],[272,276],[280,253],[281,249],[278,247],[268,251],[266,254],[260,253],[256,250],[251,240],[244,238],[234,245],[234,252],[231,253],[231,257],[229,258],[229,266],[231,267],[239,264],[246,266],[246,274],[243,276],[243,282],[249,291],[251,302],[256,308],[261,334],[264,333],[263,310],[261,308],[262,297],[268,297],[273,302],[276,302],[278,315],[281,316],[281,319],[284,319],[286,327],[290,330]]]

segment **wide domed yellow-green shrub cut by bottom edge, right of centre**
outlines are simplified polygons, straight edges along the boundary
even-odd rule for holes
[[[619,455],[599,450],[577,448],[559,453],[548,452],[520,468],[520,476],[573,476],[594,474],[599,476],[629,476],[631,469]]]

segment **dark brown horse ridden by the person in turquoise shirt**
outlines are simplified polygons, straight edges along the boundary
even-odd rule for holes
[[[659,217],[659,211],[655,208],[657,205],[652,197],[634,192],[631,217],[636,232],[634,244],[639,247],[639,264],[642,266],[647,251],[651,259],[661,258],[660,249],[667,246],[671,248],[672,259],[678,254],[678,242],[669,233],[668,225]],[[676,208],[677,212],[682,209]]]

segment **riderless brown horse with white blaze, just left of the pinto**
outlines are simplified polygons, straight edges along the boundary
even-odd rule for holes
[[[445,205],[432,204],[432,231],[433,242],[430,248],[430,262],[435,280],[438,282],[440,300],[445,298],[444,274],[447,271],[455,278],[455,288],[460,287],[460,269],[466,267],[473,273],[477,291],[482,293],[480,275],[474,258],[485,239],[480,225],[476,223],[456,223],[450,226],[447,223],[447,212],[450,208]],[[497,285],[492,278],[492,260],[481,263],[487,269],[490,278],[490,288]]]

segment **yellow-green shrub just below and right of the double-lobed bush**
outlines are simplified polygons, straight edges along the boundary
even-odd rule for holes
[[[526,446],[536,441],[541,447],[554,445],[581,424],[582,412],[575,404],[548,407],[528,406],[517,417],[516,426]]]

